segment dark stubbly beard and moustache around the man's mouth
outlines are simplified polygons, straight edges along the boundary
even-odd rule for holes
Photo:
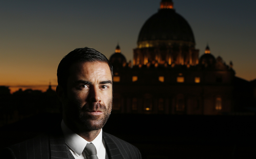
[[[82,126],[82,129],[94,131],[103,128],[106,124],[112,110],[112,98],[106,105],[100,103],[82,103],[78,99],[68,101],[66,106],[66,117],[74,123]],[[93,115],[90,111],[101,111],[100,115]]]

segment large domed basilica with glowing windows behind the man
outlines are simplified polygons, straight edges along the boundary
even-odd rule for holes
[[[215,58],[208,45],[199,58],[192,29],[171,0],[162,0],[142,26],[133,62],[119,45],[110,62],[113,113],[218,115],[234,109],[232,63]]]

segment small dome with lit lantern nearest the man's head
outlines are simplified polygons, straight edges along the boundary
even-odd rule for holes
[[[119,45],[116,46],[115,53],[110,56],[109,62],[113,65],[113,67],[121,67],[126,65],[126,58],[121,53]]]

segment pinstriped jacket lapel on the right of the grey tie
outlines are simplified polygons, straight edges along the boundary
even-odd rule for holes
[[[115,141],[105,132],[102,132],[102,137],[105,140],[109,159],[124,159]]]

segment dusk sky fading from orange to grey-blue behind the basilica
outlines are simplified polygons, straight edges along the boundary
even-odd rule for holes
[[[107,58],[117,43],[127,61],[143,24],[161,0],[8,0],[0,2],[0,85],[45,91],[57,85],[61,59],[78,47]],[[256,79],[255,0],[173,0],[190,24],[199,56],[211,53],[233,62],[236,76]]]

